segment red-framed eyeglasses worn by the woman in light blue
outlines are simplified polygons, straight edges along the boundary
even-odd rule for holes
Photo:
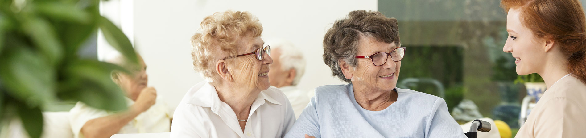
[[[391,53],[387,52],[376,52],[372,55],[357,55],[356,58],[370,58],[374,66],[382,66],[384,63],[387,62],[387,56],[391,56],[393,61],[398,62],[403,60],[403,56],[405,56],[405,47],[397,47],[391,51]]]

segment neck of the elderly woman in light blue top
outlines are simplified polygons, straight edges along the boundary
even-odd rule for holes
[[[381,111],[397,101],[397,91],[373,90],[354,85],[354,98],[360,107],[370,111]]]

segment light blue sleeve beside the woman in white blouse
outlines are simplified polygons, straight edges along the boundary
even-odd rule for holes
[[[316,97],[317,96],[311,98],[311,101],[309,101],[307,107],[303,109],[303,112],[299,115],[299,118],[297,118],[293,127],[289,130],[287,135],[285,135],[286,138],[301,138],[305,137],[305,134],[315,136],[316,138],[321,137],[319,134],[317,106],[315,105]]]

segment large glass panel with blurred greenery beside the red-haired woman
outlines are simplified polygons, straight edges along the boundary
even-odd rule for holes
[[[378,6],[398,20],[401,46],[409,48],[398,87],[444,98],[459,123],[476,117],[501,120],[515,136],[527,92],[523,84],[513,83],[515,59],[502,51],[506,14],[499,5],[486,0],[379,0]]]

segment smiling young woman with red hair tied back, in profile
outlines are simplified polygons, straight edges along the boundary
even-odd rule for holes
[[[586,19],[578,0],[502,0],[519,75],[547,85],[515,137],[585,137]]]

